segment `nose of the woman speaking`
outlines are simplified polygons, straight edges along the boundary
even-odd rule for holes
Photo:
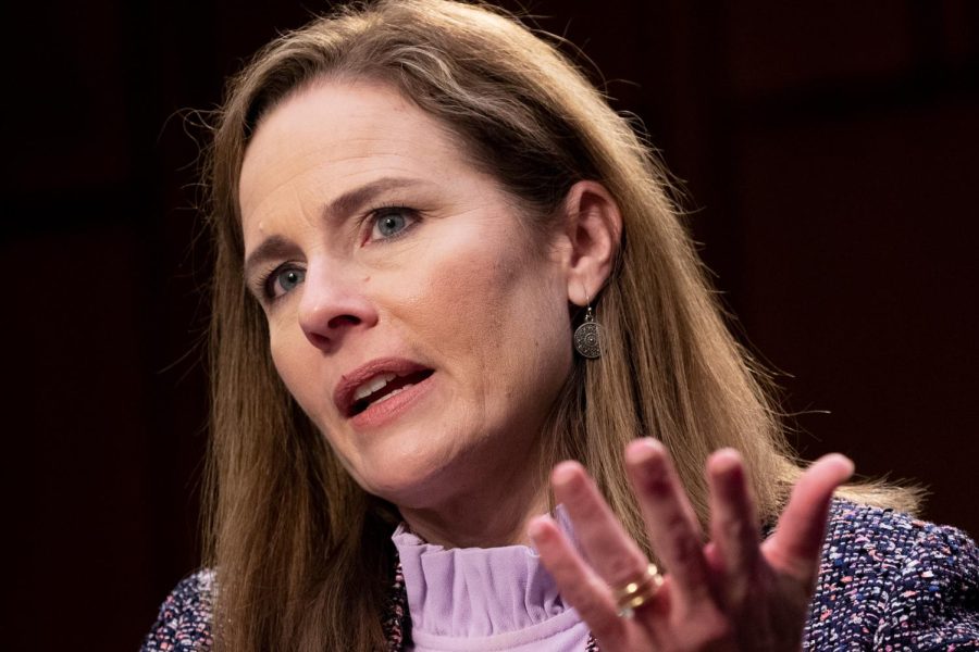
[[[367,280],[356,280],[339,265],[310,264],[299,299],[299,327],[318,349],[334,350],[357,331],[377,323],[367,293]]]

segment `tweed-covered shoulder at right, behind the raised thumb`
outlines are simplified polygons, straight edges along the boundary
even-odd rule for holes
[[[961,530],[834,501],[807,649],[979,649],[979,551]]]

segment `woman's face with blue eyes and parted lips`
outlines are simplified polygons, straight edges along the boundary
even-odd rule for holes
[[[531,246],[462,147],[388,86],[323,82],[262,121],[241,172],[275,366],[358,482],[399,505],[536,468],[571,367],[570,244],[556,228]]]

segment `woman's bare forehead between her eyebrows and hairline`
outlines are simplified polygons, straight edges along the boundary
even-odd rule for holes
[[[464,153],[461,138],[393,86],[320,80],[259,123],[241,167],[241,211],[302,185],[329,196],[382,176],[447,178],[470,167]]]

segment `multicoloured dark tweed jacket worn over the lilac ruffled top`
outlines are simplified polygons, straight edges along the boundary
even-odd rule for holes
[[[177,585],[142,652],[210,650],[213,582],[201,570]],[[400,570],[383,626],[391,652],[409,645]],[[979,651],[979,550],[955,528],[834,501],[803,649]],[[597,650],[590,640],[586,651]]]

